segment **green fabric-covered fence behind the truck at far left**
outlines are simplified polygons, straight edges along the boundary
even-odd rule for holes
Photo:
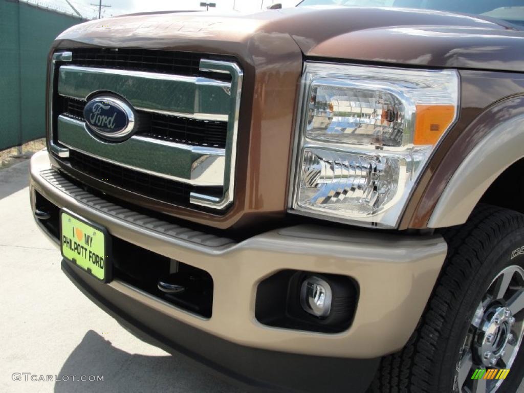
[[[81,22],[0,0],[0,150],[44,136],[49,48],[61,31]]]

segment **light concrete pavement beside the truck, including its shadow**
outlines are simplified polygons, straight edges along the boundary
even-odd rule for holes
[[[28,163],[0,171],[0,391],[240,393],[189,359],[139,341],[73,286],[33,222]],[[14,381],[14,373],[104,380]]]

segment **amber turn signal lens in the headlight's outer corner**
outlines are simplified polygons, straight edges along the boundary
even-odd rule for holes
[[[417,105],[415,145],[435,145],[455,119],[453,105]]]

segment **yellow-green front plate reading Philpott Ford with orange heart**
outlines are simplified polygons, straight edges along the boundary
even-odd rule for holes
[[[110,236],[105,228],[62,210],[60,239],[65,259],[103,282],[110,281]]]

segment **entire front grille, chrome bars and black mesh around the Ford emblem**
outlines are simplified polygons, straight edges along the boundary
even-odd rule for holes
[[[153,199],[212,209],[230,205],[243,79],[237,64],[201,57],[194,75],[189,65],[196,54],[177,64],[177,52],[90,51],[53,56],[51,151],[97,180]],[[121,143],[106,143],[85,126],[86,100],[101,91],[124,97],[140,115],[139,130]]]

